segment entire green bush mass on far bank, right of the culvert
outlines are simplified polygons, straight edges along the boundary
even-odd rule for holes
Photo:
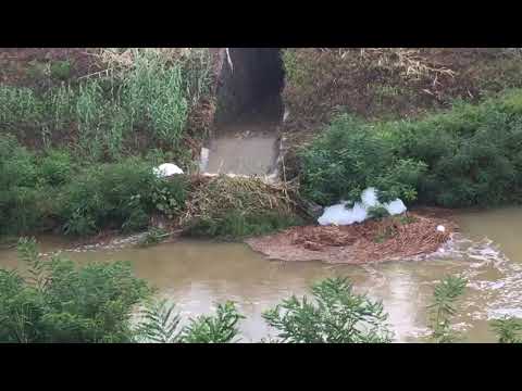
[[[456,102],[423,119],[363,123],[347,115],[301,151],[303,192],[325,204],[358,200],[443,206],[522,201],[522,90],[477,105]]]

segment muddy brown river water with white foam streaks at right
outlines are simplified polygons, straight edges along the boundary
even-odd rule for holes
[[[213,303],[234,300],[247,316],[243,341],[259,341],[269,330],[261,313],[282,299],[307,291],[328,276],[347,276],[356,290],[383,300],[397,341],[417,341],[426,332],[426,305],[434,285],[447,274],[469,278],[457,323],[469,341],[495,341],[487,320],[522,316],[522,209],[461,213],[462,234],[437,255],[371,266],[268,261],[244,244],[179,241],[149,249],[66,252],[86,263],[130,261],[136,274],[175,301],[187,318],[209,313]],[[44,240],[48,252],[63,243]],[[0,267],[16,267],[14,251],[0,252]]]

